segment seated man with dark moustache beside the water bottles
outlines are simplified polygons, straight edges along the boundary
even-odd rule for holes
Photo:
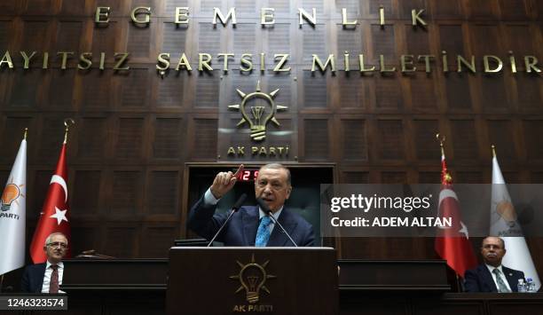
[[[524,279],[524,273],[502,265],[501,259],[505,254],[503,240],[493,236],[485,238],[481,246],[484,264],[466,272],[466,292],[518,292],[516,285],[519,279]]]

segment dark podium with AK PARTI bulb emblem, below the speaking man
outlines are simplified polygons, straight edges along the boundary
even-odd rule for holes
[[[338,313],[334,248],[170,248],[167,314]]]

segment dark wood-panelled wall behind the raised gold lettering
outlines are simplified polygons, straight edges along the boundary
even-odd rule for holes
[[[76,125],[68,138],[69,192],[75,252],[95,248],[111,256],[165,256],[171,240],[185,237],[183,165],[221,161],[219,113],[240,101],[235,89],[279,89],[275,98],[288,111],[281,129],[295,130],[298,161],[332,162],[342,183],[438,183],[439,146],[455,183],[491,180],[490,145],[498,149],[510,183],[542,182],[543,83],[525,74],[524,55],[543,60],[540,48],[543,4],[534,0],[24,0],[0,2],[0,57],[9,49],[14,69],[0,69],[0,178],[7,177],[28,134],[28,232],[31,234],[59,156],[63,120]],[[151,25],[138,28],[130,10],[152,7]],[[379,25],[379,8],[386,25]],[[110,22],[93,22],[97,6],[110,6]],[[175,7],[190,7],[190,23],[177,27]],[[275,8],[276,24],[261,28],[263,6]],[[236,7],[238,25],[211,23],[213,7]],[[318,22],[300,28],[297,8]],[[342,28],[341,9],[356,28]],[[426,28],[411,25],[411,10],[425,9]],[[30,69],[22,69],[19,51],[37,51]],[[42,69],[43,51],[50,52]],[[66,70],[57,51],[75,51]],[[78,54],[92,52],[93,65],[78,70]],[[130,53],[130,71],[114,71],[114,52]],[[343,54],[350,53],[351,71]],[[442,51],[449,72],[444,74]],[[513,51],[518,73],[508,65]],[[105,70],[98,69],[105,53]],[[171,66],[156,70],[160,52]],[[185,52],[193,71],[177,73]],[[197,70],[198,53],[213,55],[215,71]],[[233,52],[228,72],[220,52]],[[240,54],[253,53],[255,70],[240,73]],[[265,52],[270,68],[276,53],[288,53],[289,74],[258,70]],[[337,71],[311,73],[312,54],[333,53]],[[371,74],[358,72],[364,54]],[[432,73],[379,73],[400,67],[403,54],[432,54]],[[456,55],[476,56],[477,73],[457,73]],[[482,56],[504,61],[500,75],[484,75]],[[465,70],[465,67],[464,67]],[[232,102],[232,103],[230,103]],[[237,119],[236,119],[237,120]],[[104,224],[98,224],[98,218]],[[183,235],[180,233],[183,232]],[[111,242],[109,240],[116,240]],[[532,240],[540,246],[540,240]],[[434,258],[431,240],[345,239],[340,256]],[[543,256],[536,254],[540,264]]]

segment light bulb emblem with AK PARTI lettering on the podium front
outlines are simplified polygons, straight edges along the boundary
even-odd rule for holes
[[[240,293],[245,289],[248,304],[235,305],[233,311],[273,311],[273,305],[257,304],[260,300],[261,291],[270,294],[270,290],[265,286],[266,280],[277,278],[266,272],[266,266],[269,263],[270,261],[267,260],[264,264],[257,264],[255,254],[251,256],[251,261],[248,264],[241,264],[240,261],[236,261],[236,264],[240,266],[240,272],[229,278],[240,280],[240,287],[235,293]]]

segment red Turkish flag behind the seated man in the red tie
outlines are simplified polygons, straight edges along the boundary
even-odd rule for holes
[[[61,232],[68,240],[67,257],[70,252],[70,211],[67,202],[67,167],[66,144],[62,145],[57,169],[51,177],[49,190],[43,202],[43,209],[35,227],[34,237],[30,243],[30,256],[34,264],[44,263],[47,260],[43,245],[45,239],[52,232]]]

